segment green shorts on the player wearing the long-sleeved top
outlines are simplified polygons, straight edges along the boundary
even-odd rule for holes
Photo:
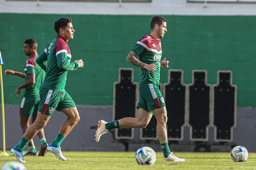
[[[56,90],[40,88],[39,94],[41,100],[39,103],[38,111],[48,116],[51,116],[55,109],[60,111],[61,109],[76,107],[73,99],[66,91],[60,92]]]

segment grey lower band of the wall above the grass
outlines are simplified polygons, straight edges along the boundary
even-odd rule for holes
[[[10,148],[14,147],[22,138],[22,131],[19,125],[19,106],[8,105],[5,109],[5,128],[6,128],[6,152],[9,152]],[[61,144],[62,150],[70,151],[124,151],[125,147],[120,143],[112,143],[111,132],[104,134],[100,141],[95,142],[95,131],[91,129],[92,126],[98,125],[98,120],[103,119],[106,121],[112,120],[112,106],[77,106],[80,114],[80,121],[77,126],[71,131],[71,133],[65,138]],[[49,120],[45,129],[45,135],[48,143],[51,143],[57,133],[61,124],[65,121],[66,116],[62,112],[54,111],[53,116]],[[168,118],[171,121],[171,118]],[[2,122],[2,119],[1,119]],[[256,139],[256,108],[243,107],[237,109],[237,126],[234,128],[234,140],[237,145],[242,145],[247,148],[248,152],[256,152],[254,141]],[[2,140],[2,126],[0,128],[0,148],[3,148]],[[135,128],[134,138],[139,139],[140,130]],[[209,128],[209,140],[208,142],[214,142],[214,129]],[[40,141],[37,136],[34,138],[35,146],[37,150],[40,148]],[[174,144],[171,142],[171,150],[176,152],[190,152],[193,151],[193,145],[189,144],[189,127],[184,129],[184,139],[182,145]],[[188,144],[185,144],[188,142]],[[129,145],[129,151],[136,151],[141,146],[150,146],[156,152],[161,152],[159,142],[156,144],[140,143]],[[228,151],[227,147],[213,146],[215,151],[225,152]],[[217,148],[217,149],[216,149]],[[223,149],[222,149],[223,148]],[[230,148],[228,148],[230,149]],[[28,148],[25,148],[28,150]],[[213,150],[214,151],[214,150]]]

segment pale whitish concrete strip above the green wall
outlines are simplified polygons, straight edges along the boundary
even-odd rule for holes
[[[152,2],[67,2],[0,0],[2,13],[107,15],[256,15],[256,3],[191,3],[187,0]],[[156,10],[161,9],[161,10]]]

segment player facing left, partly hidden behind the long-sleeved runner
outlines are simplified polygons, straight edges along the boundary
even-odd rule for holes
[[[37,110],[40,101],[39,87],[45,79],[45,71],[35,62],[35,60],[38,58],[37,41],[35,39],[30,38],[24,42],[23,52],[26,56],[29,56],[29,59],[26,60],[24,69],[25,73],[8,69],[5,70],[5,75],[16,75],[25,79],[25,83],[18,86],[15,90],[15,96],[18,98],[20,89],[25,88],[25,92],[20,104],[20,126],[24,134],[26,129],[29,127],[30,118],[32,117],[32,123],[35,122],[37,118]],[[45,156],[48,144],[45,139],[44,129],[42,128],[37,135],[39,136],[41,142],[39,154],[37,154],[33,139],[31,139],[28,143],[29,151],[25,154],[25,156]]]

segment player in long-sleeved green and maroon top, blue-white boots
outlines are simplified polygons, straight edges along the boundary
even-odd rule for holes
[[[83,67],[83,60],[70,61],[71,52],[67,41],[73,39],[75,32],[71,18],[59,18],[54,23],[54,29],[57,32],[57,37],[36,60],[37,64],[46,71],[45,81],[40,87],[37,118],[26,130],[17,146],[11,149],[11,153],[19,162],[26,162],[24,160],[24,147],[37,132],[46,126],[55,109],[66,114],[67,120],[62,124],[57,137],[47,147],[47,150],[55,154],[57,158],[67,160],[62,155],[60,145],[79,121],[79,113],[75,103],[65,91],[67,71]]]

